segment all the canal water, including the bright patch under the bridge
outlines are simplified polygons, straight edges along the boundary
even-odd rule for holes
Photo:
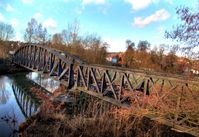
[[[19,125],[38,111],[41,100],[30,92],[35,86],[53,92],[59,82],[35,72],[0,76],[0,137],[17,137]]]

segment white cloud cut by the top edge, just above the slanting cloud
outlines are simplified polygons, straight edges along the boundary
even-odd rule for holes
[[[154,2],[153,0],[124,0],[124,1],[130,3],[132,9],[134,10],[144,9]]]

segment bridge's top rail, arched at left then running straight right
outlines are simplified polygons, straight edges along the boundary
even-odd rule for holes
[[[106,69],[106,70],[111,70],[111,71],[117,71],[120,73],[127,73],[127,74],[132,74],[132,73],[136,73],[140,76],[144,76],[144,77],[153,77],[153,78],[159,78],[159,79],[165,79],[165,80],[171,80],[171,81],[178,81],[178,82],[183,82],[183,83],[193,83],[193,84],[199,84],[199,78],[197,77],[187,77],[184,75],[177,75],[177,74],[171,74],[171,73],[162,73],[162,72],[153,72],[153,71],[144,71],[144,70],[138,70],[138,69],[129,69],[129,68],[123,68],[123,67],[115,67],[115,66],[107,66],[107,65],[99,65],[99,64],[88,64],[85,61],[82,61],[80,58],[78,58],[75,55],[72,55],[71,53],[67,52],[67,51],[61,51],[61,50],[56,50],[56,49],[52,49],[49,48],[45,45],[37,45],[35,43],[26,43],[24,44],[24,46],[21,46],[18,50],[15,51],[14,54],[16,54],[18,51],[20,51],[20,49],[26,47],[26,46],[37,46],[43,49],[46,49],[47,51],[53,53],[55,56],[57,56],[58,58],[60,58],[63,62],[65,62],[66,64],[70,64],[73,62],[68,62],[65,60],[65,57],[63,55],[61,55],[60,53],[63,53],[67,56],[70,56],[71,58],[73,58],[76,62],[82,64],[85,67],[92,67],[92,68],[97,68],[97,69]]]

